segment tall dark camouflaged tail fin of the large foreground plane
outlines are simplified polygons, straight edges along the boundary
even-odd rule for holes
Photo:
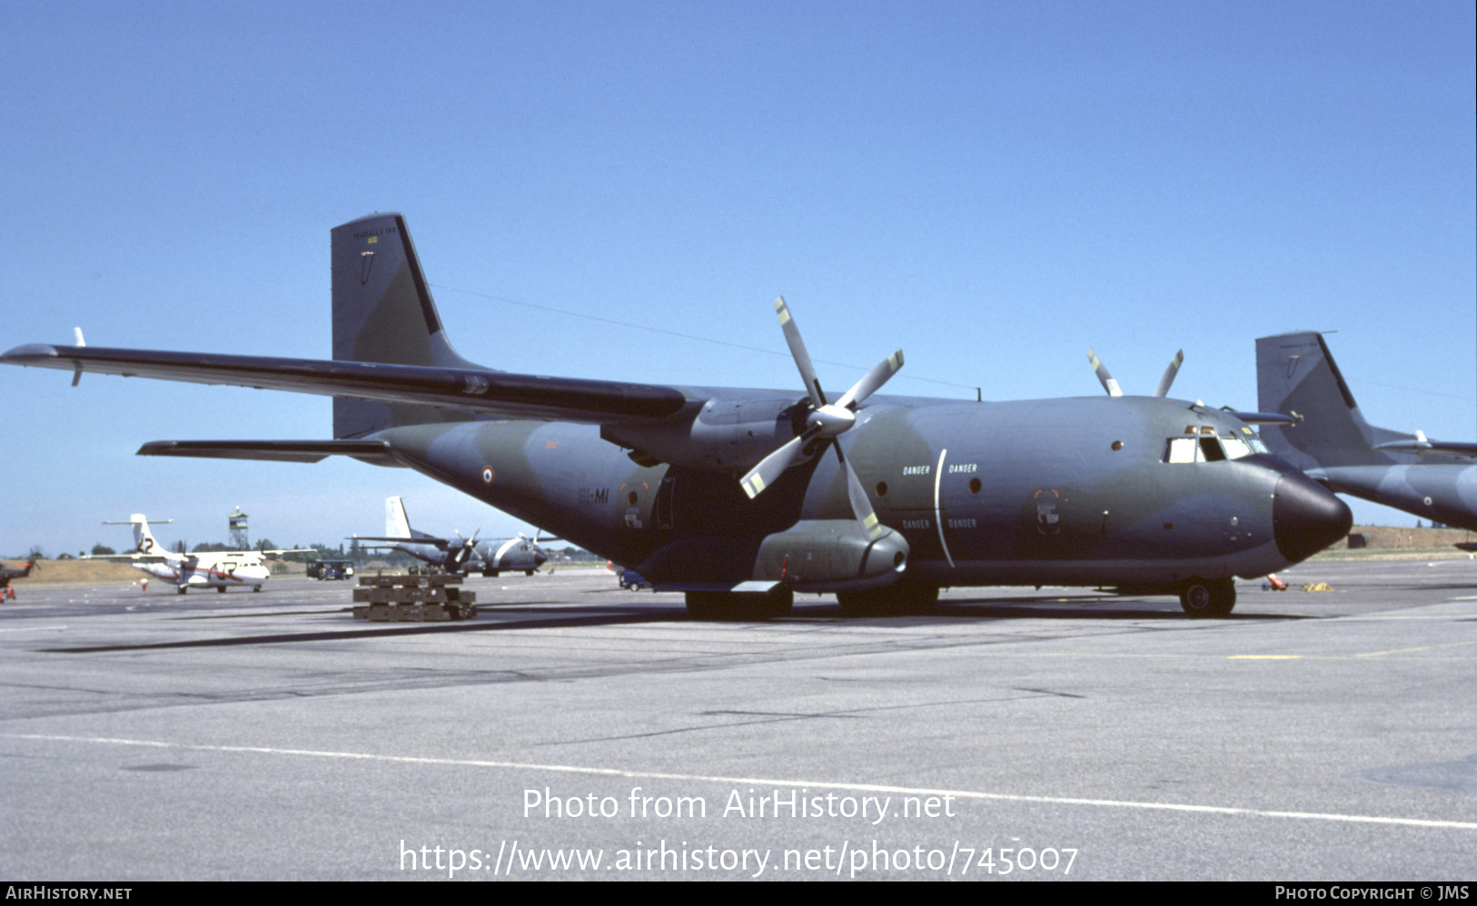
[[[374,214],[332,230],[334,359],[433,367],[482,366],[456,354],[442,329],[421,261],[399,214]],[[334,397],[334,437],[394,425],[474,419],[430,406]]]

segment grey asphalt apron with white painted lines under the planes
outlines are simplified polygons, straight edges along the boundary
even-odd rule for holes
[[[1470,879],[1477,562],[1284,577],[1205,621],[960,589],[703,623],[595,570],[473,580],[449,624],[18,583],[0,874]]]

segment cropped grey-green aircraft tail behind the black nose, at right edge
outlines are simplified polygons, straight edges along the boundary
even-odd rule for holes
[[[1260,409],[1295,426],[1263,428],[1267,446],[1335,491],[1477,531],[1477,444],[1427,440],[1365,421],[1320,333],[1257,339]]]

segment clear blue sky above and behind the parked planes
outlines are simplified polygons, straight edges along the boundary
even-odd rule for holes
[[[406,215],[514,372],[1255,406],[1338,331],[1366,416],[1477,437],[1473,4],[0,0],[0,347],[326,357],[328,230]],[[563,313],[563,314],[560,314]],[[616,322],[616,323],[611,323]],[[668,333],[663,333],[666,331]],[[678,336],[674,336],[676,333]],[[326,398],[0,369],[0,553],[523,525],[406,469],[136,457]],[[1356,505],[1360,521],[1412,516]]]

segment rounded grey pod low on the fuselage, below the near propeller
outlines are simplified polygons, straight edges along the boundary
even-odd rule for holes
[[[908,564],[908,542],[883,528],[871,540],[854,519],[801,519],[759,544],[753,577],[796,592],[860,592],[897,581]]]

